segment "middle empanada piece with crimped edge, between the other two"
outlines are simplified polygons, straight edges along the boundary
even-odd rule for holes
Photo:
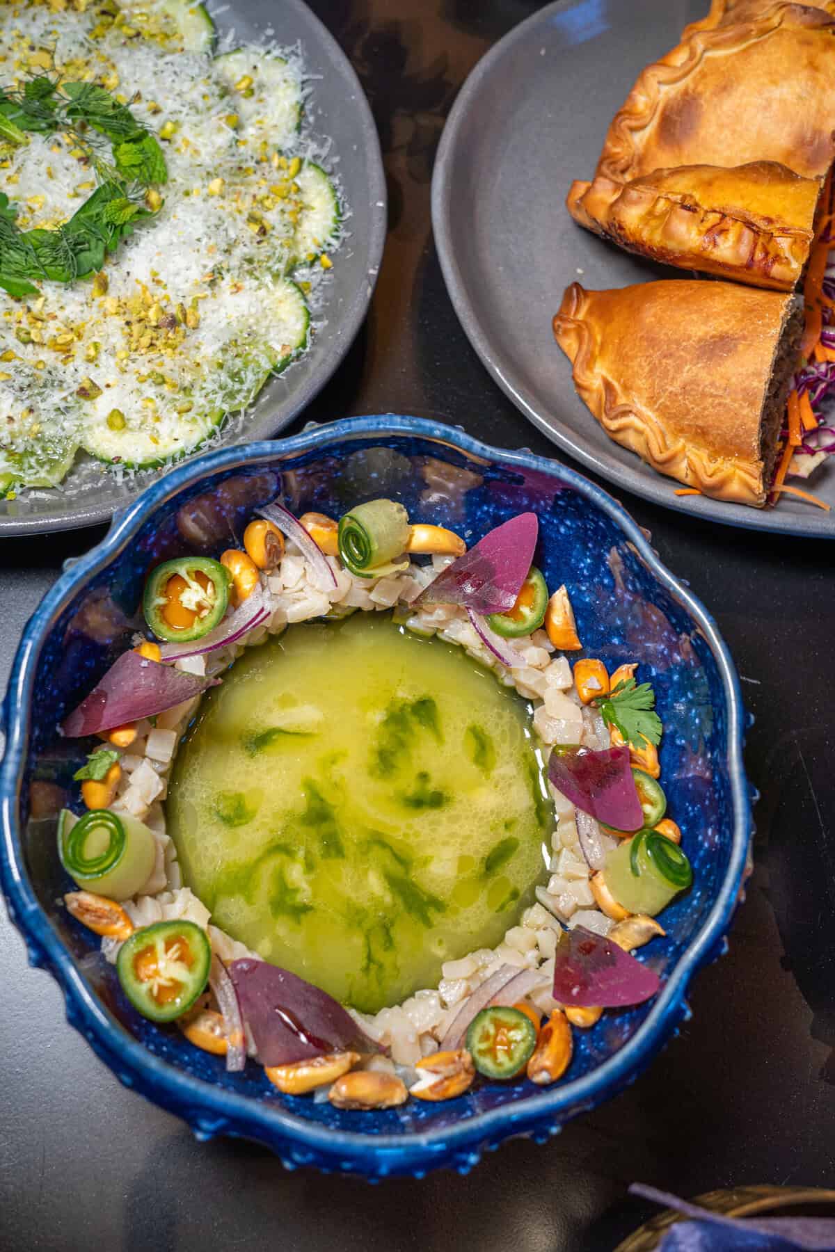
[[[822,182],[776,162],[681,165],[628,183],[573,183],[581,225],[653,260],[789,292],[814,240]]]

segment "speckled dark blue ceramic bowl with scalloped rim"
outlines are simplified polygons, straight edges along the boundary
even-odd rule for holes
[[[637,660],[655,686],[662,777],[694,888],[665,911],[667,938],[646,949],[661,993],[576,1032],[571,1068],[552,1088],[487,1084],[448,1103],[411,1101],[373,1113],[283,1097],[258,1065],[227,1074],[222,1059],[190,1047],[175,1028],[139,1018],[89,933],[55,903],[68,881],[54,824],[38,819],[36,805],[45,788],[66,782],[78,752],[56,737],[56,721],[126,646],[148,567],[183,551],[219,553],[279,490],[297,513],[338,515],[394,497],[413,518],[451,526],[471,543],[535,510],[538,563],[550,586],[571,588],[588,654],[610,669]],[[722,952],[742,883],[751,825],[742,706],[711,617],[606,492],[555,461],[501,452],[433,422],[342,421],[208,453],[165,475],[49,592],[24,632],[3,717],[0,873],[30,962],[51,970],[69,1020],[125,1085],[183,1117],[198,1138],[245,1136],[289,1167],[421,1177],[438,1166],[467,1171],[512,1134],[547,1139],[631,1082],[672,1035],[689,1012],[690,979]]]

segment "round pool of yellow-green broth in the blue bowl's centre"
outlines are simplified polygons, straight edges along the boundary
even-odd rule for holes
[[[391,618],[290,626],[204,696],[168,830],[213,921],[377,1012],[501,942],[552,810],[531,710]]]

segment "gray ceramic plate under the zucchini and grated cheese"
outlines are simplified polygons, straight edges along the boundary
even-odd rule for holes
[[[314,80],[307,125],[333,140],[337,172],[351,213],[348,235],[334,258],[322,327],[308,352],[264,388],[253,411],[229,427],[222,444],[249,443],[282,431],[324,387],[359,329],[371,300],[386,240],[386,179],[368,101],[344,53],[300,0],[233,0],[218,8],[219,33],[234,28],[245,43],[272,28],[285,45],[300,44]],[[121,485],[100,464],[79,456],[60,487],[0,501],[0,535],[69,530],[105,521],[130,503],[161,471]]]

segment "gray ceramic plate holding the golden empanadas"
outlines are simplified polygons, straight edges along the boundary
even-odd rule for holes
[[[582,230],[565,198],[572,179],[592,177],[606,129],[640,70],[706,10],[707,0],[560,0],[497,44],[467,79],[441,139],[432,180],[441,265],[496,382],[583,464],[696,517],[835,538],[835,508],[826,513],[785,496],[772,510],[675,496],[679,483],[603,433],[575,393],[551,332],[571,282],[606,288],[690,277]],[[835,506],[835,464],[801,486]]]

